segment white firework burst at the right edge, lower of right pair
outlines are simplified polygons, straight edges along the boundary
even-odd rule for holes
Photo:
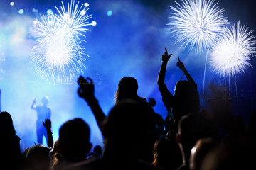
[[[245,25],[233,24],[210,52],[210,68],[223,77],[237,77],[245,72],[250,57],[255,56],[255,35]]]

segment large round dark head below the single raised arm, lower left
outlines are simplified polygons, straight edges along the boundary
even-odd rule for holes
[[[90,128],[81,118],[65,122],[59,130],[60,152],[67,162],[79,162],[86,159],[92,147]]]

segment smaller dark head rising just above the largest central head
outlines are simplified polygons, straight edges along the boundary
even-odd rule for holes
[[[134,77],[123,77],[118,83],[115,94],[116,102],[126,98],[136,99],[138,97],[137,90],[138,83]]]

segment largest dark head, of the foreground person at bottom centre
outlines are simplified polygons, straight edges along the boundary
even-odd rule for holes
[[[139,139],[146,132],[145,118],[146,111],[136,101],[123,100],[111,109],[104,135],[110,140]]]

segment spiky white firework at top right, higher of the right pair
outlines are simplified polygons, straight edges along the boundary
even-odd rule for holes
[[[210,49],[211,45],[221,38],[225,26],[229,24],[223,14],[224,9],[207,0],[182,0],[182,4],[171,13],[171,33],[176,42],[182,42],[183,47],[190,46],[189,51],[195,47],[196,52]]]

